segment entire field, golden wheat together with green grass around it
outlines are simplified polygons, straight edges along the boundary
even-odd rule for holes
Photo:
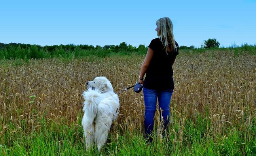
[[[181,49],[173,66],[167,136],[161,135],[157,112],[154,141],[148,144],[143,137],[142,92],[119,92],[138,81],[145,49],[118,53],[55,49],[56,55],[49,57],[49,52],[35,50],[48,53],[47,57],[7,57],[4,48],[0,155],[255,155],[255,49],[250,45]],[[13,51],[19,55],[25,50],[13,47]],[[96,147],[85,151],[81,127],[82,91],[97,76],[110,79],[120,99],[118,120],[101,153]]]

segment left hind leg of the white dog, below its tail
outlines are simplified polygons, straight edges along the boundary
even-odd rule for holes
[[[94,125],[89,120],[83,120],[83,131],[84,131],[84,138],[85,138],[85,147],[88,150],[93,145],[93,135],[94,135]]]

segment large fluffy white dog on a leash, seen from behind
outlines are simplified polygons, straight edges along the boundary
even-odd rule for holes
[[[100,151],[110,130],[111,124],[119,113],[118,95],[114,93],[106,77],[96,77],[86,83],[88,89],[83,91],[83,119],[86,149],[97,143]]]

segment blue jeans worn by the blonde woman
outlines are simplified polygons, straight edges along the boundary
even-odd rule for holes
[[[157,98],[158,98],[159,112],[160,112],[159,120],[161,121],[161,117],[163,115],[165,130],[167,129],[169,124],[169,117],[170,117],[169,105],[171,102],[173,90],[169,89],[169,90],[158,91],[158,90],[143,88],[143,94],[144,94],[144,103],[145,103],[144,132],[146,134],[146,137],[149,137],[153,131]],[[152,138],[150,139],[150,141],[152,141]]]

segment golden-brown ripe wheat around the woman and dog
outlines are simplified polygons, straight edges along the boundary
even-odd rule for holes
[[[121,109],[115,128],[143,130],[142,92],[119,92],[138,80],[143,59],[144,56],[69,62],[47,59],[30,60],[21,66],[6,61],[5,66],[0,66],[0,143],[3,144],[10,123],[25,133],[40,129],[40,117],[78,123],[85,83],[97,76],[110,79],[119,94]],[[235,127],[250,136],[250,128],[255,125],[252,118],[256,116],[255,55],[236,57],[229,51],[181,54],[173,68],[175,89],[170,121],[171,127],[180,125],[178,132],[173,130],[179,138],[182,139],[186,119],[196,124],[198,116],[210,119],[209,134]],[[36,96],[34,103],[30,102],[32,95]]]

